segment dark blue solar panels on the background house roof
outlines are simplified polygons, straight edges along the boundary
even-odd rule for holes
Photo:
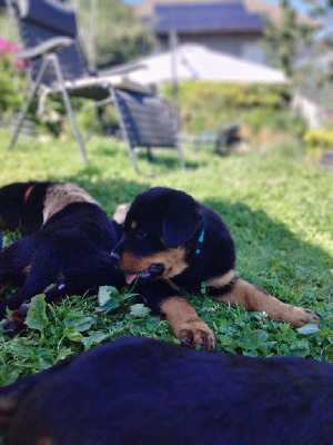
[[[157,33],[170,29],[179,32],[261,31],[264,26],[262,17],[249,13],[242,2],[157,4],[155,17]]]

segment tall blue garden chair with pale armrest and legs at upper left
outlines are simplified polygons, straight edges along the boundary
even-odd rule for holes
[[[78,38],[75,12],[62,0],[6,0],[6,3],[14,19],[23,47],[23,51],[18,57],[28,62],[31,81],[29,97],[17,121],[9,149],[13,148],[34,98],[38,96],[38,110],[42,112],[44,98],[60,92],[82,159],[88,165],[83,139],[75,121],[70,97],[92,99],[100,110],[101,107],[113,101],[114,91],[118,91],[118,88],[125,89],[129,96],[134,92],[137,99],[140,95],[145,98],[147,89],[129,81],[123,76],[99,77],[89,72]],[[122,75],[123,71],[118,73]],[[150,107],[145,107],[142,112],[149,113]],[[137,122],[138,128],[140,125],[141,121]]]

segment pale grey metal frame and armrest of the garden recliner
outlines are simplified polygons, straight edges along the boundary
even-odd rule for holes
[[[13,22],[16,23],[17,33],[18,33],[20,40],[23,42],[23,47],[26,47],[24,46],[24,36],[23,36],[26,28],[23,28],[23,26],[24,26],[23,19],[21,19],[19,16],[17,0],[6,0],[6,3],[12,16]],[[74,11],[73,11],[73,13],[74,13]],[[46,30],[48,30],[48,28],[46,28]],[[123,116],[121,107],[119,106],[119,102],[117,100],[115,92],[117,92],[117,90],[120,90],[120,88],[124,88],[128,90],[128,93],[135,92],[135,93],[140,93],[143,96],[143,95],[147,95],[147,92],[148,92],[147,88],[143,86],[140,86],[140,85],[135,85],[133,82],[131,82],[131,85],[128,87],[123,86],[123,87],[114,88],[114,86],[111,83],[111,81],[109,79],[105,79],[102,77],[99,78],[99,77],[87,76],[88,65],[87,65],[87,60],[84,58],[84,53],[82,51],[82,47],[80,44],[78,36],[75,36],[74,39],[70,38],[70,37],[58,36],[58,37],[51,37],[51,38],[41,39],[41,40],[42,40],[42,42],[38,43],[37,46],[32,46],[32,47],[28,46],[27,49],[24,49],[22,52],[18,53],[18,58],[21,58],[28,62],[34,62],[34,61],[41,60],[41,63],[40,63],[40,66],[38,63],[32,66],[32,68],[34,69],[34,75],[36,75],[34,78],[33,78],[32,69],[30,70],[30,91],[29,91],[29,96],[28,96],[28,101],[27,101],[23,110],[19,115],[19,119],[16,123],[16,127],[14,127],[14,130],[13,130],[13,134],[12,134],[12,137],[10,140],[9,149],[10,150],[13,149],[13,147],[19,138],[19,135],[21,132],[21,129],[23,127],[27,115],[30,110],[30,107],[31,107],[34,98],[38,96],[38,93],[40,91],[42,92],[41,97],[39,98],[39,101],[38,101],[39,102],[39,111],[41,111],[43,109],[43,99],[46,98],[46,96],[48,96],[50,93],[60,92],[62,95],[62,98],[63,98],[63,101],[65,105],[67,115],[69,116],[72,128],[73,128],[73,132],[74,132],[74,136],[75,136],[75,139],[78,142],[78,146],[79,146],[79,150],[80,150],[82,160],[85,166],[89,165],[88,156],[87,156],[87,152],[84,149],[84,140],[81,137],[81,134],[80,134],[80,130],[79,130],[79,127],[78,127],[78,123],[75,120],[75,116],[74,116],[74,111],[73,111],[73,108],[71,105],[70,96],[92,98],[94,100],[94,107],[98,110],[100,110],[103,106],[105,106],[108,103],[114,105],[118,117],[119,117],[120,128],[122,130],[123,139],[127,145],[131,165],[133,166],[134,170],[138,174],[142,175],[142,171],[140,170],[138,162],[135,160],[133,140],[129,136],[129,126],[127,125],[127,122],[124,120],[124,116]],[[68,79],[64,79],[63,69],[62,69],[61,60],[59,57],[59,51],[61,51],[65,48],[70,48],[72,46],[73,46],[73,50],[75,51],[75,57],[79,58],[79,61],[81,63],[79,66],[79,71],[81,72],[81,76],[79,76],[78,78],[73,78],[75,71],[74,72],[70,71],[71,78],[68,80]],[[71,48],[70,48],[70,50],[71,50]],[[51,75],[52,76],[52,85],[50,85],[50,80],[48,83],[49,68],[53,68],[52,75]],[[37,71],[37,69],[38,69],[38,71]],[[130,67],[130,69],[135,69],[135,65],[133,67]],[[118,75],[122,73],[122,72],[129,72],[129,67],[127,67],[123,71],[121,69],[117,70]],[[53,85],[53,82],[54,82],[53,79],[57,81],[56,87]],[[94,89],[95,89],[95,96],[92,95]],[[83,93],[84,91],[85,91],[85,96]],[[87,96],[87,92],[89,92],[88,96]],[[99,96],[99,99],[97,99],[97,96]],[[153,98],[153,96],[151,96],[151,97]],[[155,99],[158,100],[158,98],[155,98]],[[143,112],[145,112],[145,110]],[[97,119],[99,117],[100,117],[100,112],[98,112]],[[138,119],[138,120],[140,120],[140,119]],[[85,139],[88,139],[88,137],[91,136],[95,125],[97,125],[97,120],[93,122],[92,128],[90,128],[90,130],[88,131]],[[140,125],[140,122],[138,121],[135,125]],[[163,130],[164,130],[164,128],[163,128]],[[151,158],[151,148],[158,147],[158,145],[151,144],[151,141],[149,141],[149,144],[145,147],[148,149],[148,156],[149,156],[149,158]],[[174,138],[174,141],[172,140],[170,148],[175,148],[178,150],[178,155],[180,158],[180,167],[183,168],[185,165],[184,157],[183,157],[182,150],[176,141],[176,138]],[[154,175],[147,175],[147,176],[154,176]]]

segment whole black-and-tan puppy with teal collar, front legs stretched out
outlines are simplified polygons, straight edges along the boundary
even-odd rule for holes
[[[311,310],[284,304],[264,289],[238,277],[232,237],[219,215],[183,191],[157,187],[139,195],[113,249],[114,264],[153,313],[164,316],[175,337],[190,346],[213,348],[215,339],[199,318],[186,294],[209,296],[248,310],[265,312],[303,326],[320,318]]]

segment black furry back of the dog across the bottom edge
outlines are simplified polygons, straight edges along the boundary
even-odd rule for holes
[[[122,338],[0,389],[4,445],[329,445],[333,365]]]

